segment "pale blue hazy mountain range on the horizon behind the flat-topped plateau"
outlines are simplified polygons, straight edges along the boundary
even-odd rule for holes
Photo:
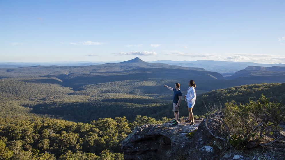
[[[154,61],[153,63],[166,63],[169,65],[179,65],[182,67],[201,67],[207,71],[218,72],[228,77],[233,75],[236,71],[242,70],[248,66],[285,66],[285,64],[259,64],[251,62],[230,62],[230,61],[212,61],[212,60],[198,60],[198,61],[170,61],[161,60]]]

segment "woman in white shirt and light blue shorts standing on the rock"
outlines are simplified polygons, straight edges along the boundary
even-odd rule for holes
[[[188,112],[189,112],[189,119],[186,122],[191,122],[189,126],[194,126],[194,115],[192,109],[195,105],[196,100],[196,91],[195,91],[196,84],[193,80],[189,81],[189,88],[187,90],[187,94],[184,96],[185,101],[188,105]]]

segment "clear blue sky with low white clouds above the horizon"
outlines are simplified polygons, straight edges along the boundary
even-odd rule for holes
[[[0,62],[285,63],[285,1],[0,1]]]

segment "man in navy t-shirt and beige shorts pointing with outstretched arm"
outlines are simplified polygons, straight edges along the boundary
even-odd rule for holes
[[[172,110],[174,113],[174,118],[175,121],[172,125],[178,124],[178,119],[179,119],[179,106],[182,98],[182,93],[180,91],[180,84],[175,83],[175,89],[168,87],[167,85],[164,85],[164,87],[167,87],[168,89],[174,91],[173,93],[173,105],[172,105]]]

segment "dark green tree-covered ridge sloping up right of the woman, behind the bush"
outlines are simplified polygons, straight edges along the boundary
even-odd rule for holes
[[[262,94],[271,101],[284,102],[285,83],[261,83],[213,90],[197,96],[196,108],[193,111],[194,114],[203,115],[207,113],[205,105],[220,105],[220,102],[224,104],[230,101],[242,104],[249,100],[258,100]]]

